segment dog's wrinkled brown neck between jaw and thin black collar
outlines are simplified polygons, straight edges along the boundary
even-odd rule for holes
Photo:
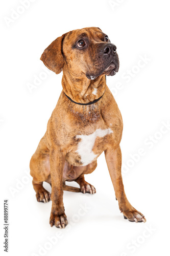
[[[100,98],[106,90],[105,76],[89,80],[85,75],[73,78],[63,72],[62,87],[64,93],[72,100],[79,103],[88,103]]]

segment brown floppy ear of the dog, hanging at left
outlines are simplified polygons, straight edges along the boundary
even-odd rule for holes
[[[44,65],[56,74],[59,74],[64,66],[64,59],[62,55],[62,43],[64,36],[65,34],[54,40],[51,45],[44,50],[40,58]]]

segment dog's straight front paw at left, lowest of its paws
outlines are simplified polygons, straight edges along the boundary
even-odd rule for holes
[[[50,225],[51,227],[56,226],[57,228],[65,228],[68,224],[67,217],[65,214],[57,215],[52,214],[50,216]]]

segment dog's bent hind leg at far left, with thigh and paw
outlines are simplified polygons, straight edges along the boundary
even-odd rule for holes
[[[47,181],[50,176],[50,156],[45,136],[40,140],[30,161],[30,174],[33,177],[36,198],[38,202],[44,203],[51,200],[51,194],[43,187],[43,181]]]

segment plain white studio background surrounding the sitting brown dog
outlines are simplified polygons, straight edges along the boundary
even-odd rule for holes
[[[170,131],[161,128],[162,122],[170,121],[168,1],[32,2],[27,9],[20,8],[17,0],[1,2],[1,250],[3,201],[8,199],[8,255],[168,254]],[[23,13],[8,26],[4,17],[11,18],[13,10]],[[102,154],[95,172],[86,177],[96,194],[64,192],[70,226],[60,231],[49,224],[52,202],[36,201],[26,172],[61,93],[62,73],[46,75],[32,92],[28,83],[44,72],[39,58],[55,38],[92,26],[100,27],[117,46],[120,69],[116,76],[107,77],[107,84],[124,121],[120,146],[124,165],[131,167],[123,180],[130,203],[147,222],[131,223],[120,214]],[[149,60],[137,68],[141,57]],[[125,79],[128,70],[133,77]],[[154,136],[152,143],[150,136]],[[135,155],[134,162],[139,148],[143,156]],[[85,204],[89,208],[80,216],[80,205]],[[49,243],[52,237],[54,245]],[[39,251],[40,246],[46,251]]]

